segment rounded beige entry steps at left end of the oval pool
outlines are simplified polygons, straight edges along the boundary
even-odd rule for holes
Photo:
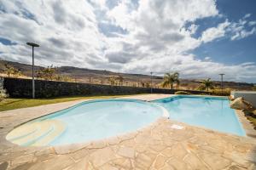
[[[42,146],[53,141],[63,133],[65,124],[57,120],[45,120],[41,122],[31,122],[16,127],[10,132],[6,139],[14,144]]]

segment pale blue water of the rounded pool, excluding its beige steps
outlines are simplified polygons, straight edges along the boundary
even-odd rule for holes
[[[57,120],[66,130],[48,145],[73,144],[104,139],[131,132],[155,122],[160,106],[134,99],[108,99],[84,102],[67,110],[35,120]]]

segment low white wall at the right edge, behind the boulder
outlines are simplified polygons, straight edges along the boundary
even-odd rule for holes
[[[231,96],[233,96],[234,99],[242,97],[243,99],[250,102],[253,105],[253,107],[256,108],[256,92],[253,92],[253,91],[232,91]]]

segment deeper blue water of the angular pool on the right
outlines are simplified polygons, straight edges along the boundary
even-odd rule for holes
[[[154,100],[169,111],[170,118],[224,133],[245,136],[230,101],[225,98],[176,96]]]

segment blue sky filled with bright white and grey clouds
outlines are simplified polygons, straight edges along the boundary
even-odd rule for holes
[[[255,0],[0,0],[0,59],[256,82]]]

